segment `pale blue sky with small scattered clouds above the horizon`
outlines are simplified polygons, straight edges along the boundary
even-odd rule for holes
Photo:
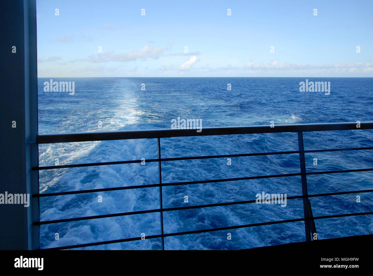
[[[373,77],[372,13],[372,0],[37,0],[38,77]]]

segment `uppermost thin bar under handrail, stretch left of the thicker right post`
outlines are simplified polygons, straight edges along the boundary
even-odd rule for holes
[[[299,151],[276,151],[276,152],[265,152],[265,153],[242,153],[242,154],[224,154],[224,155],[209,155],[209,156],[172,157],[172,158],[161,158],[161,159],[145,159],[145,162],[159,162],[159,161],[165,162],[165,161],[179,161],[179,160],[192,160],[192,159],[212,159],[212,158],[224,158],[224,157],[243,157],[243,156],[260,156],[260,155],[293,154],[293,153],[299,153]],[[141,162],[142,160],[114,161],[114,162],[99,162],[99,163],[84,163],[84,164],[73,164],[73,165],[33,167],[31,169],[33,171],[37,171],[37,170],[46,170],[46,169],[117,165],[117,164],[129,164],[129,163],[141,163]]]

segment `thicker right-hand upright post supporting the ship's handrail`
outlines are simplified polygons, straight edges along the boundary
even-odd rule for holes
[[[311,241],[310,232],[310,213],[308,211],[308,191],[307,191],[307,178],[305,174],[305,158],[304,158],[304,145],[303,145],[303,132],[298,132],[298,145],[299,145],[299,161],[301,166],[301,179],[302,179],[302,194],[303,194],[303,211],[304,211],[304,227],[305,239]]]

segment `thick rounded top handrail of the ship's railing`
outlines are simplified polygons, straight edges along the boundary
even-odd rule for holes
[[[305,132],[305,131],[339,131],[339,130],[361,130],[373,129],[373,122],[361,122],[360,128],[356,123],[316,123],[316,124],[294,124],[294,125],[270,125],[261,126],[230,126],[196,129],[150,129],[142,131],[120,131],[120,132],[83,132],[72,134],[48,134],[37,135],[36,144],[51,144],[63,142],[85,142],[85,141],[108,141],[122,139],[148,139],[166,137],[189,137],[210,135],[236,135],[278,132]]]

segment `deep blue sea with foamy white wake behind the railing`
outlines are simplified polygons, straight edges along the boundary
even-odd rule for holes
[[[38,78],[39,134],[171,128],[171,120],[201,119],[202,128],[294,123],[373,121],[373,78],[314,78],[330,82],[330,95],[300,92],[304,78],[53,78],[74,81],[75,95],[44,92]],[[141,91],[141,84],[145,91]],[[232,90],[227,91],[231,83]],[[102,127],[98,128],[98,121]],[[202,130],[203,132],[203,130]],[[373,132],[304,133],[305,149],[372,147]],[[298,150],[297,135],[255,134],[161,139],[162,157]],[[372,150],[306,154],[306,170],[372,168]],[[40,166],[157,158],[156,139],[40,145]],[[318,164],[313,165],[317,158]],[[297,154],[162,162],[162,181],[298,173]],[[91,166],[40,171],[40,193],[158,183],[158,164]],[[308,193],[373,188],[372,172],[310,175]],[[253,200],[256,194],[301,195],[300,177],[163,187],[163,208]],[[98,196],[103,202],[98,202]],[[356,196],[361,202],[356,202]],[[188,203],[184,202],[188,196]],[[372,193],[311,198],[314,216],[372,212]],[[41,197],[40,220],[85,217],[159,208],[159,188]],[[164,233],[303,217],[301,199],[164,212]],[[373,233],[373,217],[316,220],[319,239]],[[59,240],[55,240],[59,233]],[[160,234],[159,213],[47,224],[41,248]],[[232,240],[227,240],[231,233]],[[164,238],[165,249],[242,249],[305,240],[304,222],[214,231]],[[160,249],[160,239],[86,249]]]

